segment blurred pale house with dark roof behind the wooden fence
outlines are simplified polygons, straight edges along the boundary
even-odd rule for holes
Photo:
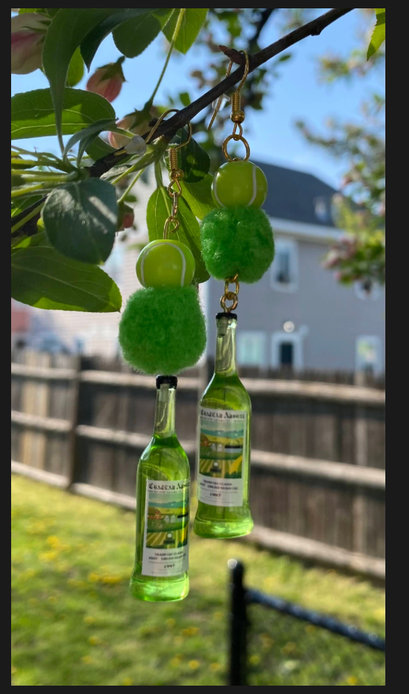
[[[385,366],[385,292],[368,295],[359,284],[338,284],[321,268],[328,242],[341,232],[332,220],[335,190],[310,173],[258,164],[268,179],[264,208],[275,230],[276,254],[271,269],[256,285],[241,285],[237,330],[240,364],[261,367],[292,365],[296,369],[371,369]],[[129,245],[147,238],[145,209],[154,183],[138,184],[138,233],[118,242],[106,271],[120,286],[124,301],[138,288],[138,251]],[[223,284],[202,286],[208,319],[208,352],[214,355],[214,315],[220,311]],[[33,311],[31,340],[54,334],[69,350],[107,357],[118,353],[119,314]]]

